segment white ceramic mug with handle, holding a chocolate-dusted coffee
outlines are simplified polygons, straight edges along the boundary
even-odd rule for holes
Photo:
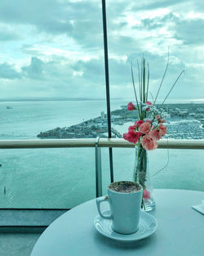
[[[122,181],[123,182],[123,181]],[[113,182],[118,183],[118,182]],[[111,183],[110,186],[113,184]],[[128,184],[137,184],[127,182]],[[120,183],[121,184],[121,183]],[[112,228],[121,234],[132,234],[138,230],[140,220],[140,210],[143,195],[143,187],[137,184],[139,189],[130,193],[113,191],[108,187],[108,196],[96,199],[97,209],[102,218],[112,220]],[[110,215],[106,216],[101,213],[100,203],[109,202]]]

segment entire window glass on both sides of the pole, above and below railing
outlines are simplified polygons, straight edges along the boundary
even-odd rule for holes
[[[107,1],[113,136],[122,137],[135,122],[134,112],[126,110],[134,100],[131,61],[136,73],[136,60],[143,54],[149,60],[154,96],[169,47],[158,103],[180,70],[185,74],[166,101],[168,135],[204,137],[204,104],[197,104],[204,88],[203,14],[196,0]],[[107,136],[100,2],[18,1],[17,7],[14,0],[0,2],[0,49],[0,139]],[[1,151],[2,207],[69,208],[95,195],[93,150]],[[105,187],[109,157],[103,152]],[[154,173],[165,165],[166,151],[151,154]],[[116,179],[131,178],[134,155],[113,150]],[[203,190],[201,166],[202,150],[171,150],[168,171],[158,173],[153,185]]]

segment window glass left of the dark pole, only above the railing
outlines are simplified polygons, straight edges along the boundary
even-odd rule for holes
[[[107,132],[100,2],[2,1],[0,49],[0,139]]]

